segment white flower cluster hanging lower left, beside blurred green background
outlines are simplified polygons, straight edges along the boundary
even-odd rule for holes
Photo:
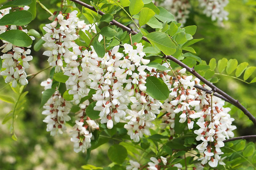
[[[52,88],[52,80],[49,78],[41,83],[44,90]],[[47,123],[47,131],[51,132],[52,136],[63,134],[66,131],[66,122],[71,120],[68,116],[71,103],[61,97],[60,92],[56,90],[51,98],[44,104],[43,115],[46,115],[43,122]]]

